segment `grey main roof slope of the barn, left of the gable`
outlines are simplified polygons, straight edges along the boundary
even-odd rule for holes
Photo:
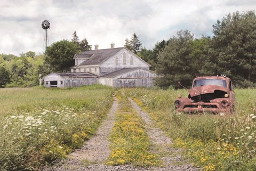
[[[83,65],[95,65],[101,64],[111,56],[115,55],[118,51],[122,50],[125,47],[118,48],[107,48],[103,50],[93,50],[93,51],[84,51],[81,54],[75,54],[74,58],[89,58],[88,60],[82,62],[80,66]]]

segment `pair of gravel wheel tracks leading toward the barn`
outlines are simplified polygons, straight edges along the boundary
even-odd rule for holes
[[[149,115],[139,108],[139,106],[129,98],[132,107],[138,112],[138,114],[145,120],[147,134],[152,142],[154,142],[152,151],[163,156],[161,159],[164,162],[163,167],[135,167],[132,165],[119,165],[119,166],[107,166],[103,165],[103,162],[107,160],[110,155],[109,149],[109,135],[111,128],[115,122],[115,113],[118,109],[118,101],[114,97],[114,103],[107,115],[107,118],[103,121],[99,127],[97,134],[95,134],[82,149],[78,149],[69,155],[66,160],[58,161],[53,166],[44,167],[40,171],[166,171],[166,170],[199,170],[196,167],[192,167],[189,164],[183,164],[185,160],[177,154],[180,150],[170,148],[172,141],[169,137],[159,128],[154,128],[153,121]],[[161,154],[164,153],[164,154]],[[175,154],[175,155],[174,155]],[[177,155],[176,155],[177,154]],[[181,161],[182,164],[177,165],[177,162]],[[174,164],[175,162],[175,164]]]

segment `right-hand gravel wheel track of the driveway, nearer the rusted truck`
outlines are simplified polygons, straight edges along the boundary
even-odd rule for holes
[[[138,115],[145,120],[147,134],[153,143],[152,150],[159,154],[163,161],[163,167],[153,167],[151,170],[200,170],[197,167],[186,164],[186,160],[180,155],[181,150],[171,148],[172,141],[170,137],[166,136],[161,129],[154,127],[154,123],[148,113],[143,112],[132,99],[129,98],[129,101],[138,112]]]

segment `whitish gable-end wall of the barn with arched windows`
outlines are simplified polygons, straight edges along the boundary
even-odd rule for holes
[[[126,54],[126,62],[123,62],[123,53]],[[132,60],[132,62],[131,62]],[[149,65],[141,60],[137,55],[126,49],[117,52],[114,56],[103,62],[100,66],[100,75],[113,72],[121,68],[145,68],[149,69]]]

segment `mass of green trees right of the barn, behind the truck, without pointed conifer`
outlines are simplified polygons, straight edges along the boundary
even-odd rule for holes
[[[138,54],[163,77],[160,87],[190,86],[196,76],[226,74],[237,87],[256,87],[255,11],[235,12],[213,25],[213,37],[194,38],[188,30]]]

